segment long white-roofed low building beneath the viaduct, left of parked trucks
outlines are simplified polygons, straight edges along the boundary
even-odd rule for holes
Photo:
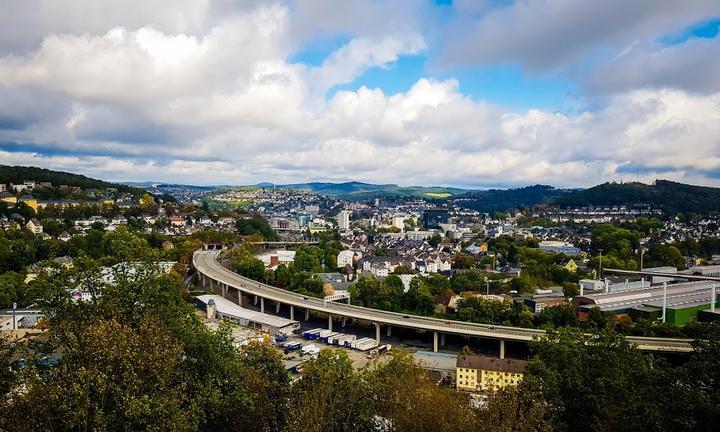
[[[205,294],[195,297],[195,304],[208,312],[208,318],[224,319],[244,327],[261,330],[273,335],[293,333],[300,330],[298,321],[245,309],[223,296]]]

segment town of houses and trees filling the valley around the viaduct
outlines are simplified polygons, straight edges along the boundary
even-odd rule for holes
[[[225,249],[225,268],[303,299],[489,329],[611,325],[627,336],[683,338],[694,323],[720,317],[712,279],[720,276],[717,215],[665,217],[658,209],[624,206],[483,213],[418,197],[348,201],[274,187],[219,188],[203,201],[188,199],[179,186],[158,195],[25,179],[0,189],[4,256],[24,242],[34,248],[6,260],[0,276],[8,282],[0,328],[15,337],[45,331],[45,312],[30,297],[38,277],[94,253],[109,264],[101,284],[113,284],[128,264],[124,254],[94,249],[127,241],[157,249],[161,271],[187,279],[207,325],[238,325],[237,346],[272,342],[291,375],[301,376],[324,346],[348,350],[358,368],[395,347],[413,353],[444,386],[484,394],[517,385],[528,351],[526,343],[500,338],[498,352],[494,338],[473,338],[472,331],[436,331],[433,340],[423,330],[391,336],[388,325],[381,340],[380,324],[353,317],[341,317],[333,332],[332,314],[323,324],[325,314],[299,308],[304,319],[298,321],[292,305],[281,312],[282,302],[274,301],[273,313],[262,296],[243,294],[243,285],[234,294],[227,282],[218,289],[196,272],[198,249],[217,245]],[[709,279],[697,281],[698,275]],[[80,302],[102,295],[97,287],[67,291]]]

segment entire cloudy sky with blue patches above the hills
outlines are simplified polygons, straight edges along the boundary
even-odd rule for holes
[[[720,186],[717,0],[3,0],[0,164]]]

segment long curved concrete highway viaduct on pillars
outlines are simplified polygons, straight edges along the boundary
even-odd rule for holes
[[[435,351],[438,350],[438,340],[440,339],[442,342],[445,334],[496,339],[500,341],[500,356],[504,357],[505,341],[529,342],[533,338],[545,334],[544,330],[446,321],[437,318],[404,315],[396,312],[387,312],[344,303],[326,302],[312,297],[304,297],[291,291],[248,279],[226,269],[217,261],[219,253],[219,250],[201,250],[196,251],[193,255],[193,265],[198,272],[198,277],[202,281],[203,286],[209,285],[213,292],[217,289],[224,297],[231,298],[240,305],[242,305],[242,294],[257,296],[257,298],[260,299],[260,309],[263,312],[265,310],[265,300],[274,302],[276,311],[279,310],[280,304],[285,304],[290,308],[290,319],[294,319],[295,308],[304,310],[306,318],[308,317],[309,311],[327,314],[329,317],[328,326],[330,328],[332,328],[333,317],[352,318],[373,323],[375,325],[375,334],[378,343],[380,342],[381,325],[388,326],[388,334],[391,326],[398,326],[433,332],[433,347]],[[690,340],[688,339],[630,336],[628,336],[628,339],[637,344],[639,349],[645,351],[692,351]]]

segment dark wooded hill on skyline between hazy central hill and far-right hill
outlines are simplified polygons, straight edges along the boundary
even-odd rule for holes
[[[526,186],[517,189],[490,189],[467,192],[449,198],[455,204],[480,212],[507,211],[522,206],[534,206],[570,193],[547,185]]]

